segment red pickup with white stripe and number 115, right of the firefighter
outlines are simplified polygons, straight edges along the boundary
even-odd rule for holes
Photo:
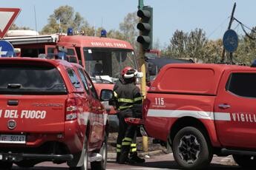
[[[208,166],[213,154],[256,167],[256,68],[168,64],[143,105],[143,118],[134,123],[163,140],[183,169]]]

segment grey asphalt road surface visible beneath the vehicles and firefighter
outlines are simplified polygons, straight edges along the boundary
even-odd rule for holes
[[[237,170],[240,169],[238,166],[229,166],[229,157],[214,157],[211,165],[206,170]],[[13,169],[24,170],[18,166],[13,166]],[[68,166],[63,163],[60,165],[53,163],[39,163],[33,169],[30,170],[68,170]],[[120,169],[131,169],[131,170],[164,170],[164,169],[179,169],[177,163],[175,163],[172,154],[160,154],[154,155],[146,159],[146,163],[137,165],[120,165],[114,163],[114,160],[108,160],[108,170],[120,170]]]

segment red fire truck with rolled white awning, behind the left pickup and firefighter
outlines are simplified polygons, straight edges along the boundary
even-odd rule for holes
[[[70,62],[81,64],[91,76],[96,91],[113,89],[121,70],[130,66],[137,69],[137,58],[127,41],[85,35],[39,35],[4,38],[13,47],[21,49],[21,56],[35,57],[40,53],[53,54],[65,48]],[[102,69],[96,73],[95,68]],[[106,104],[108,105],[108,104]],[[107,106],[110,131],[117,129],[116,111]],[[113,130],[112,130],[113,129]]]

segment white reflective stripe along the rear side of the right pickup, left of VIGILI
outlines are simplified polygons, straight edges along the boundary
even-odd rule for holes
[[[226,112],[206,112],[196,110],[167,110],[167,109],[148,109],[147,117],[161,117],[161,118],[183,118],[193,117],[206,120],[226,120],[230,121],[230,114]]]

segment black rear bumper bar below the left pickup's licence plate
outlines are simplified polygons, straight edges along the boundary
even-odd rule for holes
[[[72,160],[72,154],[24,154],[24,153],[0,153],[1,161],[19,162],[22,160],[42,160],[42,161],[55,161]]]

